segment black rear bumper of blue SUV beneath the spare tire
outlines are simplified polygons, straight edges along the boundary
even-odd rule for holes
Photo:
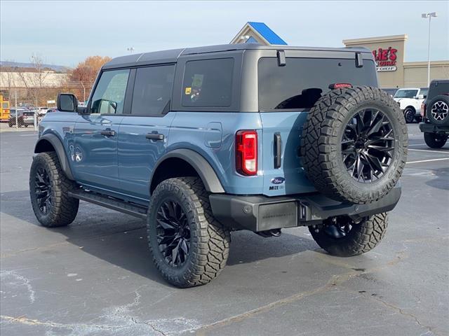
[[[210,207],[220,223],[236,230],[259,232],[319,224],[333,216],[354,220],[391,211],[401,197],[401,186],[370,204],[342,203],[319,194],[297,197],[238,196],[211,194]]]

